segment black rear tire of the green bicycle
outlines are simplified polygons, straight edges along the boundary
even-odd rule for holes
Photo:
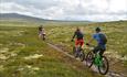
[[[104,59],[104,61],[103,61],[103,64],[106,65],[106,69],[105,69],[104,72],[102,72],[102,66],[98,66],[98,72],[99,72],[99,74],[102,74],[102,75],[106,75],[106,74],[108,73],[108,69],[109,69],[108,59],[107,59],[105,56],[103,56],[102,59]],[[105,66],[105,65],[103,65],[103,66]]]

